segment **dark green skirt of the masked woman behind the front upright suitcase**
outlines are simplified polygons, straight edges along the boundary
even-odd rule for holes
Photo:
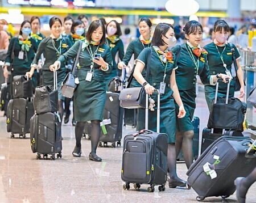
[[[148,112],[148,129],[156,132],[156,120],[157,120],[157,95],[151,95],[151,98],[155,100],[155,111]],[[172,90],[169,90],[164,95],[160,95],[160,133],[166,133],[168,135],[168,143],[175,143],[175,131],[176,131],[176,113],[174,98],[172,98]],[[137,130],[145,129],[145,109],[138,109],[138,122]]]

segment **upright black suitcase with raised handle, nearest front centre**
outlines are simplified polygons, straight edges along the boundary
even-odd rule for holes
[[[148,129],[148,95],[146,95],[145,130],[129,133],[123,140],[122,180],[123,189],[130,189],[130,183],[135,189],[141,184],[150,184],[148,192],[154,192],[154,186],[159,185],[159,191],[165,190],[167,178],[167,143],[168,137],[160,130],[160,94],[158,91],[157,132]]]

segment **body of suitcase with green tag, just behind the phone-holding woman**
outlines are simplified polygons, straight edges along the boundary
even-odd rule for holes
[[[103,112],[103,121],[101,122],[101,137],[99,146],[108,146],[108,142],[115,147],[121,146],[122,129],[123,129],[123,111],[119,105],[119,93],[106,92],[106,103]],[[104,122],[111,122],[104,125]]]

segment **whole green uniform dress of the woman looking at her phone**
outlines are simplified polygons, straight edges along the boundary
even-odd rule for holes
[[[68,50],[58,61],[64,64],[69,58],[76,57],[79,49],[79,41],[76,42],[71,49]],[[96,52],[97,50],[97,52]],[[102,120],[102,113],[106,101],[106,83],[104,82],[104,71],[100,70],[100,66],[92,62],[90,53],[101,54],[105,62],[109,64],[110,72],[112,69],[112,57],[110,49],[107,45],[88,45],[81,50],[79,56],[79,69],[77,69],[77,77],[79,84],[74,92],[74,106],[75,106],[75,120],[76,121],[90,121]],[[92,81],[86,81],[86,75],[91,70],[93,63],[93,77]]]

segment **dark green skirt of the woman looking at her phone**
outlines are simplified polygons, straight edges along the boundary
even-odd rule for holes
[[[76,121],[102,120],[106,102],[105,83],[95,79],[91,82],[80,80],[73,102]]]

